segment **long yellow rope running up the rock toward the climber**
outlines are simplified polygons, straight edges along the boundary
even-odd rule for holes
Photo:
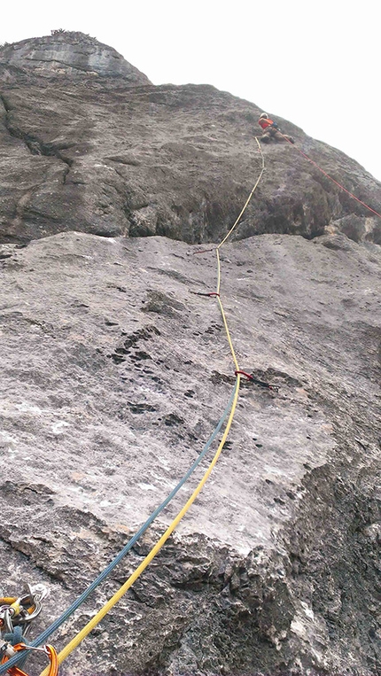
[[[239,366],[238,366],[237,356],[236,356],[236,353],[235,353],[235,351],[234,351],[233,343],[232,343],[232,340],[231,340],[231,337],[230,337],[230,333],[229,333],[228,322],[227,322],[227,320],[226,320],[226,315],[225,315],[225,312],[224,312],[224,309],[223,309],[223,306],[222,306],[222,300],[221,300],[221,298],[220,298],[220,288],[221,288],[221,261],[220,261],[220,253],[219,253],[219,249],[220,249],[221,246],[226,242],[226,240],[227,240],[228,237],[231,235],[231,233],[233,232],[233,230],[237,228],[237,224],[238,224],[239,220],[241,219],[242,215],[244,214],[246,207],[248,206],[248,204],[249,204],[251,198],[253,197],[253,192],[254,192],[254,190],[256,190],[256,188],[257,188],[257,186],[258,186],[258,183],[260,183],[260,178],[261,178],[262,175],[263,175],[264,168],[265,168],[265,167],[264,167],[263,153],[262,153],[262,151],[261,151],[261,148],[260,148],[260,142],[258,141],[258,138],[257,138],[257,137],[255,137],[255,141],[256,141],[257,144],[258,144],[258,148],[259,148],[259,150],[260,150],[260,155],[261,155],[261,159],[262,159],[262,166],[261,166],[261,169],[260,169],[260,175],[259,175],[259,177],[258,177],[258,179],[257,179],[257,181],[256,181],[256,183],[255,183],[255,185],[253,186],[253,190],[251,191],[249,197],[246,199],[245,206],[244,206],[244,208],[241,210],[241,213],[238,215],[237,220],[236,220],[235,223],[233,224],[232,228],[229,229],[229,232],[228,232],[228,234],[226,235],[226,237],[224,237],[224,238],[222,239],[222,242],[220,242],[220,244],[216,247],[216,250],[215,250],[215,251],[216,251],[216,255],[217,255],[217,294],[218,294],[218,295],[217,295],[217,300],[218,300],[218,304],[219,304],[219,307],[220,307],[220,311],[221,311],[221,315],[222,315],[222,321],[223,321],[223,325],[224,325],[224,327],[225,327],[226,336],[227,336],[227,338],[228,338],[229,348],[230,348],[230,352],[231,352],[231,355],[232,355],[232,358],[233,358],[233,361],[234,361],[234,365],[235,365],[235,367],[236,367],[236,371],[239,371]],[[94,615],[94,617],[91,618],[91,619],[89,620],[88,624],[85,625],[85,626],[82,628],[82,630],[81,630],[79,633],[77,633],[76,636],[74,636],[74,639],[73,639],[72,641],[69,641],[69,643],[66,644],[65,648],[61,650],[61,652],[58,654],[58,664],[62,664],[62,662],[66,659],[66,657],[68,657],[68,656],[70,655],[70,653],[72,653],[73,650],[74,650],[75,648],[77,648],[77,647],[80,645],[80,643],[83,641],[83,639],[86,638],[86,636],[88,636],[88,634],[89,634],[93,629],[95,629],[95,627],[99,624],[99,622],[100,622],[103,618],[105,618],[105,615],[107,615],[107,613],[108,613],[110,610],[112,610],[113,606],[114,606],[118,601],[121,600],[121,597],[122,597],[124,594],[126,594],[126,592],[128,591],[129,587],[131,587],[131,586],[134,584],[134,582],[136,581],[136,579],[138,579],[138,578],[140,577],[140,575],[142,574],[142,572],[143,572],[143,571],[147,568],[147,566],[152,562],[152,559],[159,553],[159,550],[160,550],[160,549],[164,546],[164,544],[167,542],[167,539],[169,538],[169,536],[172,534],[172,532],[175,531],[175,527],[180,523],[180,521],[182,520],[182,518],[184,517],[184,515],[187,513],[188,509],[190,509],[191,505],[192,505],[193,502],[196,500],[196,498],[197,498],[197,496],[198,496],[198,493],[200,493],[200,491],[201,491],[201,489],[203,488],[203,486],[205,486],[207,479],[209,478],[210,474],[212,473],[212,470],[213,470],[213,468],[214,468],[214,465],[216,464],[218,458],[219,458],[220,455],[221,455],[223,445],[224,445],[224,443],[225,443],[225,441],[226,441],[226,439],[227,439],[227,437],[228,437],[229,430],[230,430],[230,427],[231,427],[231,423],[233,422],[233,418],[234,418],[234,415],[235,415],[235,412],[236,412],[236,408],[237,408],[237,400],[238,400],[238,393],[239,393],[240,379],[241,379],[241,377],[240,377],[239,373],[237,373],[237,375],[236,375],[236,391],[235,391],[235,393],[234,393],[234,399],[233,399],[233,403],[232,403],[232,406],[231,406],[231,410],[230,410],[228,422],[226,423],[225,431],[224,431],[223,434],[222,434],[221,442],[220,442],[219,447],[217,448],[217,450],[216,450],[216,452],[215,452],[215,455],[214,455],[214,458],[213,458],[212,462],[210,463],[209,467],[207,468],[207,470],[206,470],[206,472],[205,472],[203,478],[200,480],[198,486],[195,488],[195,490],[194,490],[193,493],[191,494],[191,497],[190,497],[189,500],[185,503],[185,505],[183,506],[183,509],[181,509],[181,510],[179,511],[179,513],[177,514],[177,516],[175,517],[175,519],[172,521],[172,523],[169,524],[169,526],[167,527],[167,531],[164,532],[164,534],[163,534],[163,535],[161,536],[161,538],[158,540],[158,542],[156,543],[156,545],[154,545],[154,547],[152,547],[152,550],[149,552],[149,554],[148,554],[147,556],[145,556],[144,561],[142,561],[142,563],[140,563],[140,565],[139,565],[139,566],[136,568],[136,570],[129,576],[129,578],[128,578],[128,579],[126,580],[126,582],[120,587],[120,589],[118,589],[118,591],[117,591],[115,594],[113,594],[112,598],[109,599],[109,601],[107,601],[107,602],[105,603],[105,605],[103,606],[103,608],[101,608],[100,610],[98,610],[97,614]],[[49,674],[49,669],[44,669],[43,672],[40,674],[40,676],[48,676],[48,674]]]

